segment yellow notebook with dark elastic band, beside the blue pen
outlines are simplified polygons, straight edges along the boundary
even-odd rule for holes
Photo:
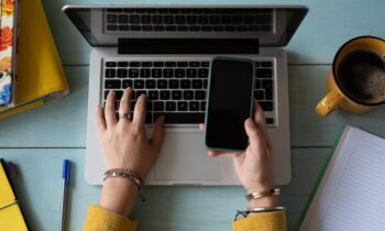
[[[0,160],[0,230],[29,230],[16,197],[12,190],[12,186],[8,179],[4,162],[2,160]]]

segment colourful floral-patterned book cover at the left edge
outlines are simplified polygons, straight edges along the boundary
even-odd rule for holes
[[[0,107],[13,106],[16,56],[16,0],[1,0]]]

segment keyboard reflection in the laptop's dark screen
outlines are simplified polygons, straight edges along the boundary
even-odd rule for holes
[[[109,32],[272,32],[271,9],[108,9]]]

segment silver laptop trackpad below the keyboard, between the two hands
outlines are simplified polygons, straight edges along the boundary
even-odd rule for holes
[[[155,164],[155,179],[194,182],[220,178],[220,161],[207,155],[204,133],[166,133]]]

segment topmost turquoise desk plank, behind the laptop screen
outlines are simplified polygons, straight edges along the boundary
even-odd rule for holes
[[[51,28],[64,64],[89,63],[90,47],[61,12],[65,4],[186,4],[182,0],[43,0]],[[204,0],[189,4],[206,4]],[[211,0],[213,4],[233,4],[231,0]],[[338,47],[359,35],[385,37],[383,9],[385,1],[344,0],[244,0],[242,4],[306,4],[310,11],[288,45],[289,63],[330,64]],[[349,30],[346,30],[349,29]]]

